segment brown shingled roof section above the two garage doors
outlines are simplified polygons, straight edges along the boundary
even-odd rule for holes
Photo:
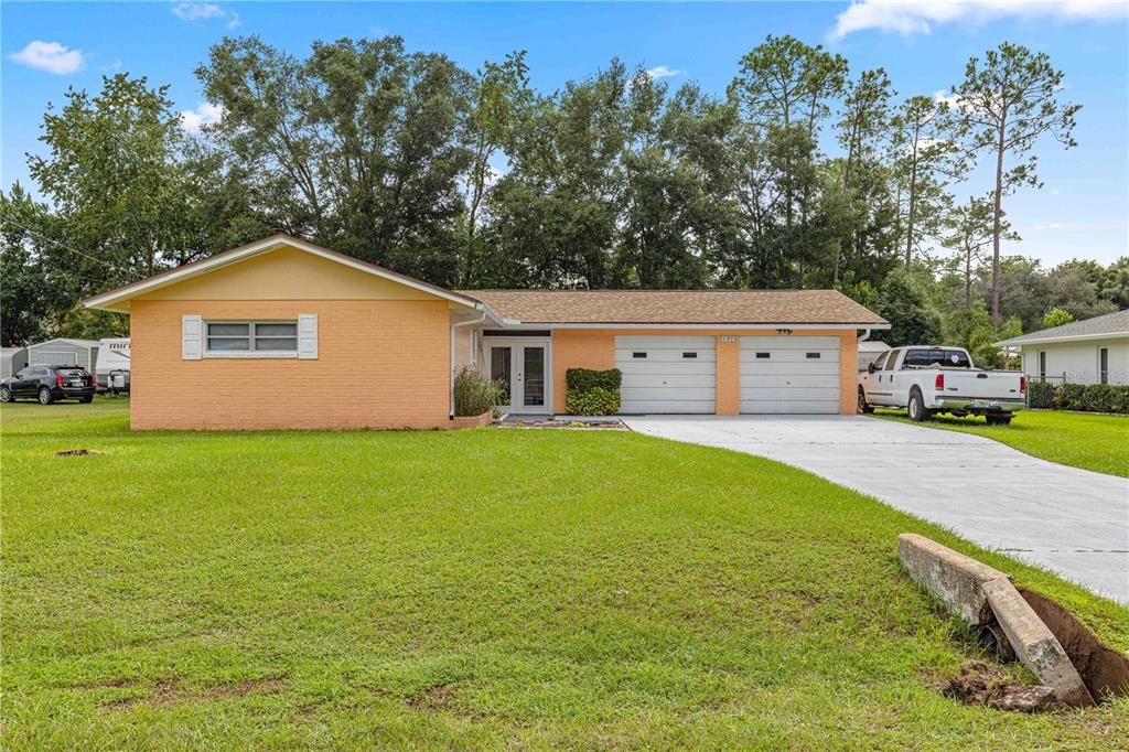
[[[887,325],[834,290],[463,290],[523,324]]]

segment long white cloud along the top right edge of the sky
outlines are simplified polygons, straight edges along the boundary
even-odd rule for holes
[[[1108,20],[1124,17],[1127,9],[1124,0],[855,0],[835,18],[831,38],[864,29],[911,36],[929,34],[940,24],[983,24],[1006,17]]]

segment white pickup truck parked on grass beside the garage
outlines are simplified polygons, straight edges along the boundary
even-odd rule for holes
[[[1026,403],[1026,377],[1017,370],[972,367],[968,350],[911,344],[895,348],[858,377],[858,409],[905,408],[911,420],[947,412],[1009,423]]]

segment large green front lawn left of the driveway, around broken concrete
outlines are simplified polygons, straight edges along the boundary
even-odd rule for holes
[[[597,430],[131,434],[124,405],[0,410],[6,749],[1129,738],[1129,699],[942,697],[977,652],[895,536],[1122,650],[1129,609],[785,465]]]

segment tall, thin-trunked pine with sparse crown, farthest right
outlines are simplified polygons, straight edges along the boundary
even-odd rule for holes
[[[1005,195],[1021,186],[1041,187],[1034,152],[1040,137],[1050,134],[1066,148],[1076,146],[1074,116],[1082,105],[1062,100],[1062,72],[1044,52],[1005,42],[989,50],[983,62],[969,60],[964,80],[953,88],[961,132],[971,154],[987,152],[995,160],[992,187],[992,281],[989,311],[999,325],[1000,255],[1004,239]]]

